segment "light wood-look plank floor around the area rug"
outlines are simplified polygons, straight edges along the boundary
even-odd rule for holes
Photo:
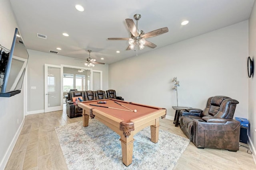
[[[27,115],[5,170],[68,169],[54,127],[77,121],[82,121],[82,117],[70,119],[66,115],[66,109]],[[161,119],[160,125],[161,129],[186,137],[171,120]],[[190,142],[174,169],[256,170],[256,165],[252,155],[244,147],[240,147],[237,152],[230,152],[222,149],[198,149]]]

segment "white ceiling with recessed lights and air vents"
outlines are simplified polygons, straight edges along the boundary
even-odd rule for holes
[[[108,40],[129,37],[125,19],[141,14],[138,29],[145,33],[168,27],[169,32],[147,40],[155,49],[248,20],[254,0],[10,0],[27,49],[86,59],[107,64],[133,57],[126,51],[128,41]],[[84,6],[84,12],[75,9]],[[189,20],[188,25],[180,25]],[[136,21],[134,21],[136,24]],[[14,31],[14,30],[13,30]],[[62,33],[68,33],[64,37]],[[36,33],[47,35],[38,38]],[[57,50],[60,47],[62,50]],[[120,53],[116,53],[119,50]],[[138,55],[152,51],[138,50]],[[104,60],[100,60],[103,57]]]

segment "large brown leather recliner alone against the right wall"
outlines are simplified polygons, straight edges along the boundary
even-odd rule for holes
[[[181,112],[180,128],[197,148],[239,150],[240,122],[233,119],[237,100],[210,97],[204,111],[190,108]]]

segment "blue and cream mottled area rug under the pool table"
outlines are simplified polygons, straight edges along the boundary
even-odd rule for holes
[[[69,170],[171,170],[189,139],[160,129],[158,143],[150,141],[150,127],[134,135],[132,164],[122,163],[120,136],[96,119],[55,127]]]

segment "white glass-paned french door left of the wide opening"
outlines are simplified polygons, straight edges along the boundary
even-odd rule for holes
[[[44,112],[63,109],[63,67],[44,64]]]

